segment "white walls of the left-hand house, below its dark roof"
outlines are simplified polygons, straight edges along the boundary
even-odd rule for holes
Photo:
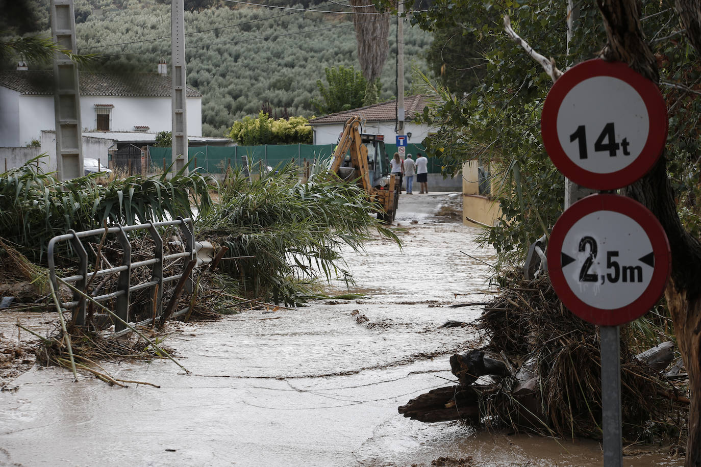
[[[0,87],[0,99],[0,146],[25,146],[32,139],[40,139],[42,130],[55,130],[53,96],[20,96],[18,92]],[[169,132],[172,127],[170,97],[83,96],[83,129],[95,130],[97,126],[95,104],[114,105],[111,131],[132,132],[134,125],[148,125],[149,132]],[[187,134],[202,136],[201,97],[187,99]]]

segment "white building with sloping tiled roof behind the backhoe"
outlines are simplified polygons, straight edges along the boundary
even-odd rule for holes
[[[404,97],[404,134],[409,137],[410,144],[421,144],[430,132],[428,125],[413,121],[419,113],[423,112],[425,106],[426,97],[423,95]],[[362,118],[363,133],[384,134],[385,141],[390,144],[396,141],[397,101],[395,99],[309,120],[309,125],[314,130],[314,144],[336,144],[339,134],[343,132],[343,124],[353,116]]]

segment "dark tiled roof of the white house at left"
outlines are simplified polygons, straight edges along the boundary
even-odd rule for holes
[[[156,73],[81,72],[81,96],[106,97],[170,97],[170,76]],[[0,86],[21,92],[22,95],[53,95],[53,71],[0,71]],[[187,97],[202,97],[200,92],[187,88]]]

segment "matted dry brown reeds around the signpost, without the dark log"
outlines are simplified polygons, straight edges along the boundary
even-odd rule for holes
[[[536,431],[559,436],[601,438],[601,358],[597,327],[569,312],[548,277],[533,281],[510,274],[477,321],[496,354],[517,366],[533,365],[538,377],[542,423]],[[688,403],[683,391],[635,358],[639,326],[621,330],[621,397],[626,440],[679,435]],[[639,350],[637,350],[639,351]],[[513,415],[523,407],[510,395],[515,381],[484,387],[487,414],[518,428]],[[681,397],[680,397],[681,395]],[[494,420],[492,420],[494,421]],[[520,425],[523,426],[522,424]]]

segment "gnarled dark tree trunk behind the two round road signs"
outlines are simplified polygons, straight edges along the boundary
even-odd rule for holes
[[[604,59],[625,62],[657,83],[658,66],[643,39],[640,4],[635,0],[597,0],[597,4],[608,36],[608,45],[602,51]],[[695,34],[690,37],[690,43],[698,52],[701,5],[697,0],[676,0],[676,8],[687,27],[686,34]],[[672,249],[672,274],[665,298],[691,391],[685,465],[701,466],[701,244],[681,225],[664,153],[649,174],[625,189],[625,195],[641,202],[657,216]]]

